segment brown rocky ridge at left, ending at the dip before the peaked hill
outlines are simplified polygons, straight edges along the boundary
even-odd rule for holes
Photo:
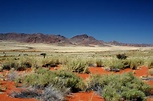
[[[69,39],[60,35],[47,35],[42,33],[1,33],[0,40],[12,40],[26,43],[52,43],[52,44],[71,44]]]

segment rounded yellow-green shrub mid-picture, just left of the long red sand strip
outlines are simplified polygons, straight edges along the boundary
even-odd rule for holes
[[[64,68],[71,72],[89,73],[88,64],[81,59],[68,61]]]

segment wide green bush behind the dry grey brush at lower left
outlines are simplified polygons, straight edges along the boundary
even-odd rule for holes
[[[25,86],[38,88],[52,85],[61,91],[70,88],[72,92],[81,91],[85,87],[83,80],[74,73],[64,70],[49,71],[46,68],[39,68],[35,73],[18,78],[16,81],[21,81]]]

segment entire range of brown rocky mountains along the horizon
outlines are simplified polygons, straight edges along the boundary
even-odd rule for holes
[[[87,34],[76,35],[72,38],[66,38],[61,35],[54,34],[26,34],[26,33],[0,33],[0,40],[11,40],[26,43],[47,43],[55,45],[76,45],[76,46],[137,46],[137,47],[147,47],[153,46],[153,44],[127,44],[120,43],[117,41],[104,42],[97,40],[92,36]]]

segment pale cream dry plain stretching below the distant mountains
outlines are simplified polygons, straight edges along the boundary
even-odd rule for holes
[[[102,52],[102,51],[124,51],[124,50],[152,50],[153,47],[132,46],[57,46],[44,43],[20,43],[13,41],[0,41],[0,51],[39,51],[39,52]]]

